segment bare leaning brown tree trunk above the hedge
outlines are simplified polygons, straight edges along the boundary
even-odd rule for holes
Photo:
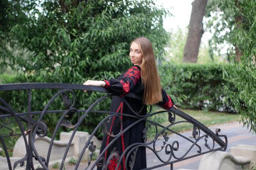
[[[186,45],[183,51],[183,62],[197,63],[197,56],[201,37],[203,35],[203,16],[208,0],[194,0],[189,21],[189,31]]]

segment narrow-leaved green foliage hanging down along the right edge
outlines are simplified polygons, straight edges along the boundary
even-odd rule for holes
[[[241,63],[228,70],[236,75],[238,89],[233,93],[232,102],[242,115],[244,125],[256,132],[256,1],[242,0],[236,6],[243,23],[235,30],[235,40],[243,46],[243,54]]]

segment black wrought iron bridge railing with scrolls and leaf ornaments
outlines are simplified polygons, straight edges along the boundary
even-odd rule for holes
[[[32,110],[32,95],[36,93],[37,90],[40,89],[57,89],[56,92],[51,99],[48,99],[48,103],[44,105],[43,110]],[[33,90],[33,94],[32,94]],[[78,109],[76,108],[76,94],[74,90],[87,90],[87,91],[97,91],[100,93],[105,93],[103,97],[98,98],[95,102],[92,102],[88,108]],[[93,132],[91,132],[91,136],[84,141],[83,147],[80,150],[80,156],[77,158],[78,163],[74,166],[75,170],[79,169],[88,169],[93,170],[99,167],[99,169],[106,170],[108,169],[108,165],[110,164],[110,159],[104,160],[104,152],[113,144],[113,142],[118,139],[122,134],[128,131],[133,126],[136,126],[141,121],[146,122],[146,127],[143,130],[144,133],[144,142],[134,143],[128,148],[125,149],[123,154],[117,155],[115,151],[113,151],[111,156],[109,157],[116,157],[117,164],[119,165],[123,156],[125,156],[125,168],[129,170],[133,167],[134,161],[128,160],[128,157],[131,157],[134,154],[138,147],[144,147],[147,151],[147,156],[150,155],[155,156],[156,162],[154,164],[148,163],[146,170],[157,169],[162,166],[170,165],[170,169],[173,169],[173,164],[189,159],[192,157],[196,157],[198,155],[202,155],[205,153],[210,153],[213,151],[225,151],[227,148],[227,137],[224,135],[219,135],[219,129],[216,129],[216,132],[212,132],[206,126],[201,124],[196,119],[192,118],[188,114],[175,109],[171,108],[169,110],[164,110],[160,106],[149,106],[148,113],[146,115],[140,115],[139,113],[134,112],[134,114],[122,114],[124,117],[133,117],[137,119],[133,124],[129,125],[127,128],[120,130],[118,134],[111,134],[109,129],[105,130],[102,133],[106,133],[109,136],[114,137],[114,139],[109,143],[109,145],[101,152],[98,153],[97,157],[95,158],[95,150],[96,146],[93,142],[93,136],[98,132],[100,128],[106,128],[106,122],[109,122],[111,118],[114,116],[118,119],[120,118],[120,113],[109,112],[109,111],[102,111],[102,110],[94,110],[95,106],[100,103],[104,102],[105,99],[111,98],[112,94],[109,94],[108,91],[103,87],[97,86],[90,86],[90,85],[74,85],[74,84],[55,84],[55,83],[28,83],[28,84],[6,84],[0,85],[0,92],[5,91],[26,91],[27,92],[27,111],[26,112],[16,112],[15,108],[9,104],[10,101],[5,99],[5,96],[0,98],[0,147],[2,151],[0,152],[0,158],[6,161],[6,169],[14,170],[19,167],[25,167],[26,170],[34,170],[40,169],[39,167],[48,170],[50,167],[49,163],[51,161],[51,154],[52,154],[52,147],[54,144],[54,139],[58,134],[58,131],[61,126],[65,126],[73,130],[72,135],[68,143],[66,144],[65,152],[63,153],[62,159],[60,160],[59,169],[63,170],[66,169],[66,161],[67,161],[67,154],[70,150],[72,145],[74,136],[78,132],[79,126],[81,125],[82,121],[87,119],[87,117],[91,114],[98,114],[98,115],[106,115],[98,125],[95,127]],[[72,100],[69,99],[70,93]],[[53,104],[53,102],[59,98],[63,98],[64,105],[68,108],[63,110],[49,110],[49,106]],[[129,93],[126,97],[133,98],[140,100],[138,96],[135,94]],[[10,96],[6,97],[8,100],[11,98]],[[43,104],[43,103],[42,103]],[[128,104],[128,102],[126,102]],[[129,105],[129,104],[128,104]],[[128,106],[129,107],[129,106]],[[46,114],[60,114],[61,117],[56,122],[56,127],[54,132],[52,132],[51,141],[49,143],[48,150],[45,150],[47,153],[46,157],[42,157],[38,150],[39,148],[35,145],[36,138],[43,138],[47,136],[48,125],[43,121]],[[72,124],[70,121],[66,120],[67,114],[78,114],[78,121],[75,124]],[[34,117],[34,115],[38,115]],[[157,118],[158,116],[165,115],[169,119],[169,123],[165,122],[164,125],[161,123],[154,121],[152,117]],[[180,119],[177,119],[179,117]],[[13,123],[16,123],[19,127],[19,130],[16,132],[13,131],[12,126]],[[193,137],[184,136],[181,133],[178,133],[174,127],[178,126],[179,124],[190,124],[193,127]],[[120,126],[122,124],[120,123]],[[148,136],[148,130],[153,128],[151,131],[151,137]],[[152,132],[154,134],[152,134]],[[171,135],[171,136],[168,136]],[[24,147],[26,153],[24,157],[21,157],[19,160],[12,162],[12,154],[11,149],[7,147],[8,140],[6,138],[10,138],[12,136],[22,136],[22,140],[24,143]],[[175,137],[177,136],[177,137]],[[177,140],[178,138],[178,140]],[[182,146],[184,141],[188,142],[189,145]],[[160,144],[159,144],[160,142]],[[83,167],[80,167],[80,162],[82,161],[82,156],[86,152],[86,150],[90,151],[89,160],[83,163]],[[93,158],[94,157],[94,158]],[[102,161],[103,159],[103,161]],[[148,159],[148,157],[147,157]],[[99,161],[102,161],[99,164]],[[39,166],[38,166],[39,165]],[[86,165],[86,166],[85,166]],[[1,166],[1,165],[0,165]],[[38,166],[36,168],[36,166]],[[118,166],[117,166],[118,167]],[[118,168],[116,168],[117,170]]]

